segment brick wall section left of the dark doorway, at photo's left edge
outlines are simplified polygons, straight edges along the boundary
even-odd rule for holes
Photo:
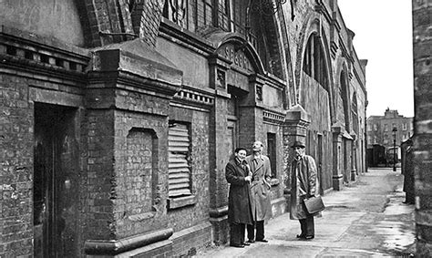
[[[33,252],[33,105],[27,83],[0,73],[0,256]]]

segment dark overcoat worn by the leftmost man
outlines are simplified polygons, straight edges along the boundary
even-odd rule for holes
[[[228,195],[228,222],[252,224],[252,210],[249,192],[249,168],[244,161],[240,164],[237,159],[230,160],[225,168],[225,178],[230,183]]]

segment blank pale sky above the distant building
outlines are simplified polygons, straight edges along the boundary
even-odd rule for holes
[[[338,0],[345,26],[354,31],[358,58],[368,59],[366,115],[386,108],[414,117],[411,0]]]

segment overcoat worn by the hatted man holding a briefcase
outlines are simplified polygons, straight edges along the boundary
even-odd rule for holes
[[[306,208],[303,200],[311,195],[319,194],[318,177],[315,160],[311,156],[303,155],[291,163],[291,211],[290,219],[306,219]]]

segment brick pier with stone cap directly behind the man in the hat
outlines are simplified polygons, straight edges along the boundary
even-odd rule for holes
[[[311,115],[299,104],[293,106],[286,112],[283,125],[283,171],[287,178],[285,181],[286,188],[283,193],[287,201],[290,200],[289,195],[291,194],[291,162],[294,157],[294,151],[291,146],[296,140],[301,140],[305,143],[306,129],[310,123]]]

